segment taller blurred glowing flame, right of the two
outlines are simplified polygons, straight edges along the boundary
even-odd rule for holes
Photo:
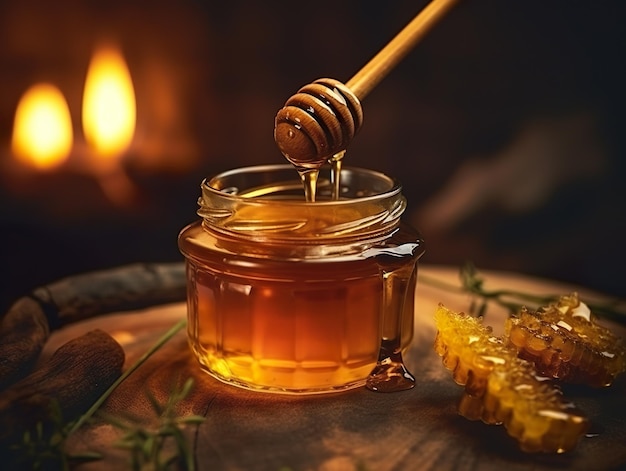
[[[135,133],[135,91],[122,54],[98,49],[91,59],[83,95],[83,131],[96,154],[112,159],[130,145]]]

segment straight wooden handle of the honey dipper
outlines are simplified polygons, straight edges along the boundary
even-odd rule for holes
[[[362,100],[458,0],[433,0],[346,85]]]

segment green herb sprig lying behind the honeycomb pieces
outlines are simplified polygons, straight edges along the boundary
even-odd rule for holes
[[[541,306],[547,306],[556,303],[563,294],[533,294],[524,291],[512,289],[488,290],[484,287],[484,278],[479,275],[478,270],[472,262],[463,264],[459,271],[461,285],[452,285],[445,281],[437,280],[428,276],[420,276],[420,281],[424,284],[431,285],[457,293],[466,293],[472,296],[469,313],[476,316],[484,315],[489,303],[497,304],[508,310],[509,314],[514,316],[519,310],[526,306],[531,309],[537,309]],[[607,301],[590,301],[584,300],[589,306],[591,312],[612,320],[619,324],[626,325],[626,301],[620,299],[608,299]]]

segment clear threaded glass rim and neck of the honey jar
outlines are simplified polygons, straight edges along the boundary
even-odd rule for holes
[[[330,184],[320,192],[318,179],[318,195],[327,199],[308,202],[292,165],[241,167],[202,182],[198,215],[205,226],[222,233],[313,244],[377,237],[399,223],[406,199],[398,180],[375,170],[345,167],[341,183],[340,198],[332,199]]]

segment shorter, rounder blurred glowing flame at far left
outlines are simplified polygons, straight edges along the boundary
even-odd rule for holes
[[[15,112],[11,140],[15,157],[48,170],[67,160],[72,139],[70,110],[60,90],[46,83],[29,88]]]

